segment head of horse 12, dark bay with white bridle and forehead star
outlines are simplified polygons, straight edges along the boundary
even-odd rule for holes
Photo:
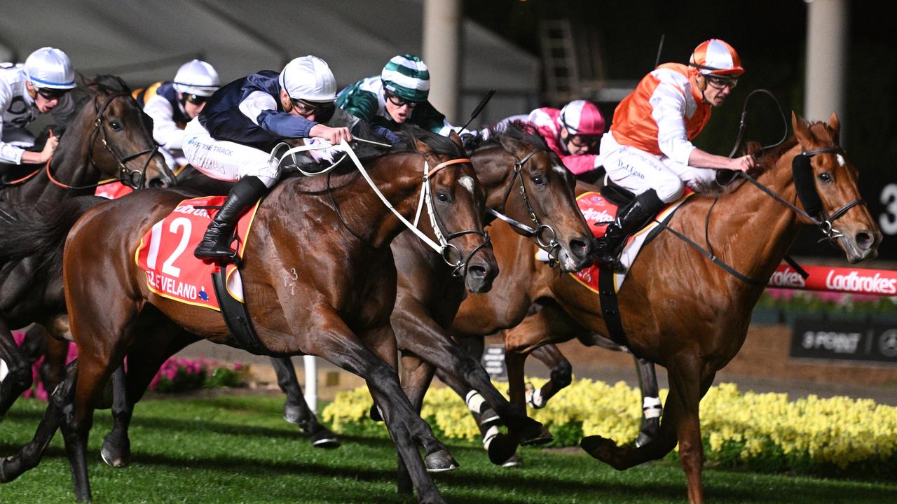
[[[464,149],[446,137],[405,132],[428,164],[422,191],[424,200],[429,200],[431,232],[442,246],[443,259],[465,278],[468,291],[489,291],[499,266],[483,230],[485,192],[473,165]]]

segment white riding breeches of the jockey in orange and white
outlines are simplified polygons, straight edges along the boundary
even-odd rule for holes
[[[673,203],[685,186],[702,192],[716,180],[716,170],[694,168],[635,147],[616,142],[610,132],[601,137],[601,155],[607,176],[636,195],[654,189],[664,203]]]

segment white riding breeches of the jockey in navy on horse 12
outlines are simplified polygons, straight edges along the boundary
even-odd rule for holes
[[[184,129],[184,156],[194,168],[219,180],[259,178],[266,187],[277,181],[277,163],[268,162],[269,152],[241,143],[215,140],[198,118]]]

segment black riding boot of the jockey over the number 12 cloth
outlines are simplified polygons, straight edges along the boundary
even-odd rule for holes
[[[258,198],[265,195],[268,188],[257,177],[244,177],[231,189],[222,204],[222,209],[215,214],[209,229],[205,230],[203,241],[199,242],[193,255],[206,263],[227,264],[234,260],[237,253],[231,249],[233,229],[240,216],[250,206],[256,204]]]

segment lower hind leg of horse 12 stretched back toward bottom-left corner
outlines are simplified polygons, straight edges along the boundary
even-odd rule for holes
[[[57,429],[65,421],[65,415],[71,412],[66,405],[72,403],[77,373],[77,361],[74,361],[66,369],[65,379],[50,395],[47,411],[41,417],[34,437],[18,454],[0,460],[0,482],[12,482],[39,464]]]

